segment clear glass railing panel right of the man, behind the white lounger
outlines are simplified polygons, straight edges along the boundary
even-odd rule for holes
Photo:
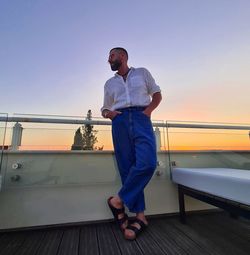
[[[168,124],[172,165],[250,170],[249,125],[194,122]]]

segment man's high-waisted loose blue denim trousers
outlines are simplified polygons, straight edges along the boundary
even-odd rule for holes
[[[118,193],[130,212],[145,210],[144,188],[156,168],[156,143],[145,107],[118,109],[112,121],[112,137],[122,187]]]

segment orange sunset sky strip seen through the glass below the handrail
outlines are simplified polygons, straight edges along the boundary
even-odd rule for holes
[[[113,150],[110,127],[98,127],[98,142],[95,147],[102,147],[105,151]],[[76,127],[71,129],[46,129],[24,127],[22,143],[19,150],[71,150],[74,142]],[[95,127],[95,129],[97,129]],[[250,149],[249,131],[237,130],[201,130],[160,128],[161,151],[204,151],[204,150],[244,150]],[[6,144],[11,144],[12,129],[7,132]]]

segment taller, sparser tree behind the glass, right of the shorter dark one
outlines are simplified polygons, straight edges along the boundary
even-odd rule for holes
[[[92,120],[91,110],[88,110],[86,120]],[[83,150],[94,150],[94,145],[98,142],[97,132],[97,130],[94,130],[93,125],[85,124],[82,126]]]

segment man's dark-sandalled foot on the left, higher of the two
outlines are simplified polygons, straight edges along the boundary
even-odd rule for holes
[[[128,226],[128,215],[125,213],[122,201],[116,197],[110,197],[107,203],[120,229],[124,231]]]

